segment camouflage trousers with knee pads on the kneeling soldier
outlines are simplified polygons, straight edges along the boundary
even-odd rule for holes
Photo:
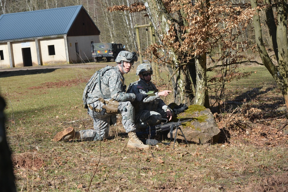
[[[90,104],[92,107],[97,109],[101,109],[103,103],[100,101],[95,101]],[[126,133],[130,131],[134,131],[135,124],[134,119],[135,115],[131,114],[132,104],[130,101],[121,102],[119,101],[118,113],[122,115],[122,124]],[[134,108],[132,109],[134,111]],[[88,114],[93,118],[93,128],[92,130],[81,130],[80,139],[82,140],[102,140],[104,138],[108,138],[110,125],[116,124],[116,114],[113,113],[105,113],[104,115],[100,115],[99,112],[92,111],[88,108]],[[112,123],[111,123],[112,122]]]

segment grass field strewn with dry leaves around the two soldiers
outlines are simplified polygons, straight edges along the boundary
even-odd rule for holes
[[[121,123],[102,142],[50,141],[93,128],[82,93],[95,70],[0,72],[17,191],[288,191],[287,111],[265,68],[245,67],[251,76],[227,85],[219,144],[127,149]],[[135,68],[125,78],[135,81]]]

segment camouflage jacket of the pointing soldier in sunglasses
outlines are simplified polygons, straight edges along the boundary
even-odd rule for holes
[[[130,83],[127,88],[127,92],[134,94],[138,93],[146,94],[149,91],[155,91],[155,90],[157,90],[157,88],[152,82],[146,83],[142,79]],[[158,92],[155,93],[155,96],[149,96],[144,98],[142,102],[134,100],[132,104],[135,107],[136,115],[142,110],[156,111],[157,108],[161,108],[166,112],[167,109],[170,109],[169,107],[167,107],[164,101],[160,99]]]

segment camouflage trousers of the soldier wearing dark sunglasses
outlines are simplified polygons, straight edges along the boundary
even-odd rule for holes
[[[156,111],[143,110],[135,115],[137,130],[145,130],[148,126],[154,126],[161,122],[162,118],[167,117],[167,113],[162,108],[157,108]]]

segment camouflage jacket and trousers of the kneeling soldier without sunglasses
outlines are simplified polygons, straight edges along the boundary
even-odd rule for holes
[[[105,100],[113,98],[118,101],[118,113],[121,113],[122,124],[128,133],[135,130],[134,117],[130,115],[131,110],[134,110],[130,101],[135,100],[135,94],[125,93],[124,79],[118,66],[106,71],[101,78],[101,90],[99,82],[96,83],[94,90],[87,94],[87,104],[101,111],[104,104],[98,100],[99,98],[105,98]],[[80,139],[99,140],[108,138],[109,126],[116,124],[116,114],[106,112],[104,115],[100,115],[100,112],[93,111],[90,108],[88,108],[88,114],[93,118],[94,130],[79,131]]]

